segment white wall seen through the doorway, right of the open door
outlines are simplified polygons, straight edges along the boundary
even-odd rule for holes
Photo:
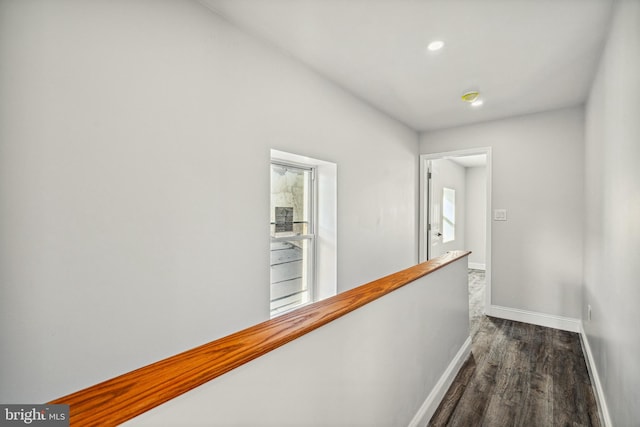
[[[465,249],[471,251],[469,266],[486,267],[487,235],[487,168],[465,169]]]

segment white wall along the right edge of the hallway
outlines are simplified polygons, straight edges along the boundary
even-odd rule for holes
[[[640,420],[638,76],[640,3],[623,1],[587,104],[585,170],[584,328],[615,426]]]

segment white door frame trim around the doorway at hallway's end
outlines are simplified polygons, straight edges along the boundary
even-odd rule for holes
[[[487,156],[486,164],[486,271],[485,271],[485,313],[490,312],[491,307],[491,147],[478,147],[466,150],[447,151],[442,153],[430,153],[420,155],[420,201],[419,201],[419,251],[418,259],[420,262],[426,261],[429,251],[429,231],[427,224],[429,221],[429,191],[430,185],[427,185],[428,162],[431,160],[447,159],[451,157],[462,157],[485,154]]]

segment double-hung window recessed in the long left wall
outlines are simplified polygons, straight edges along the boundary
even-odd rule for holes
[[[314,300],[315,168],[271,163],[271,316]]]

